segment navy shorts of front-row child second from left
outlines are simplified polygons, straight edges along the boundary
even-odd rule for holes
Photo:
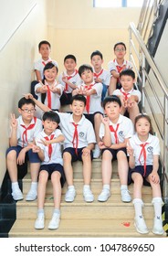
[[[66,177],[65,177],[65,174],[64,174],[64,168],[62,165],[60,164],[49,164],[49,165],[40,165],[40,168],[39,168],[39,173],[41,171],[47,171],[48,173],[48,179],[51,178],[51,175],[54,173],[54,172],[58,172],[60,174],[60,184],[61,184],[61,187],[64,186],[65,182],[66,182]]]

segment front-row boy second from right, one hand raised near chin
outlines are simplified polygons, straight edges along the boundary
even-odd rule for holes
[[[127,187],[129,166],[126,144],[133,134],[133,124],[129,118],[121,115],[121,101],[117,96],[106,97],[103,101],[103,107],[107,117],[102,118],[100,124],[103,187],[98,200],[104,202],[110,197],[111,161],[117,159],[121,181],[121,200],[130,202],[131,195]]]

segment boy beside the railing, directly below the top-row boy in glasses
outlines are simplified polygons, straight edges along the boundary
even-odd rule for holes
[[[117,95],[121,99],[121,114],[127,111],[132,123],[140,113],[138,103],[142,99],[142,93],[134,90],[135,73],[131,69],[124,69],[120,73],[121,89],[113,91],[112,95]]]

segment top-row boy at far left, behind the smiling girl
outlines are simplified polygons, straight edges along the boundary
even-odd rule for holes
[[[58,62],[49,57],[51,52],[51,45],[48,41],[43,40],[39,42],[38,51],[39,51],[39,54],[41,55],[41,59],[38,59],[34,63],[34,70],[35,70],[35,75],[37,80],[33,80],[31,83],[31,93],[34,95],[35,98],[37,98],[37,96],[35,94],[34,88],[39,81],[42,81],[44,79],[43,69],[45,68],[46,64],[52,61],[52,63],[54,63],[55,66],[58,67]]]

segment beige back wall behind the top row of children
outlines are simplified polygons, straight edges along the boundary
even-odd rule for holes
[[[137,24],[140,15],[139,8],[93,8],[92,0],[50,0],[47,10],[52,58],[58,60],[59,71],[67,54],[74,54],[79,66],[89,63],[96,49],[102,52],[107,69],[114,59],[113,45],[124,41],[128,47],[129,23]]]

